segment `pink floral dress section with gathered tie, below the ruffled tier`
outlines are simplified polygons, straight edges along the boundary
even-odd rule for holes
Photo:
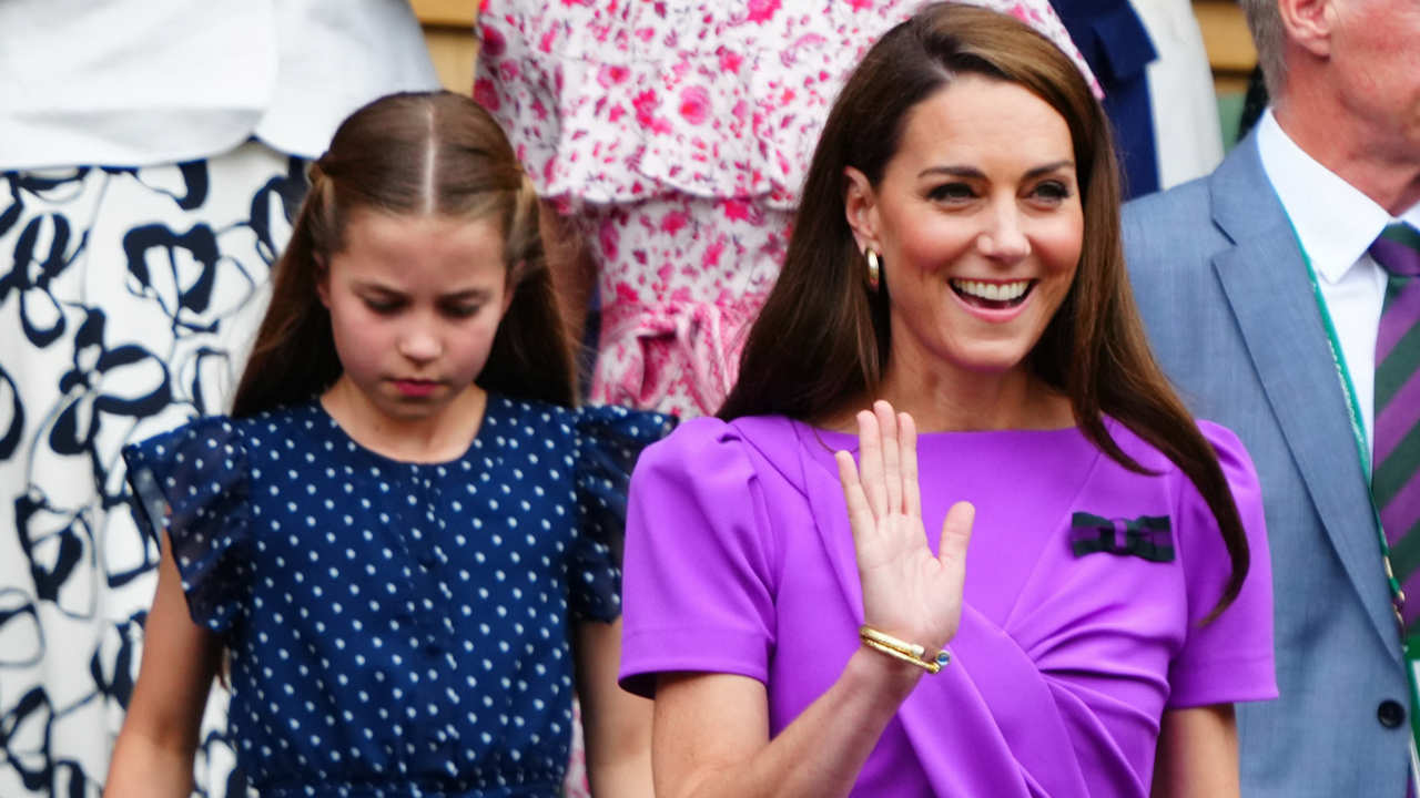
[[[784,264],[791,214],[754,199],[690,195],[568,212],[599,271],[591,399],[680,417],[714,413]]]

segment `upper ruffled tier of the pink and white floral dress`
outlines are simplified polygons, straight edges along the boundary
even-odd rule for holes
[[[1093,77],[1047,0],[1012,14]],[[564,204],[672,192],[791,210],[838,89],[922,0],[484,0],[474,98]]]

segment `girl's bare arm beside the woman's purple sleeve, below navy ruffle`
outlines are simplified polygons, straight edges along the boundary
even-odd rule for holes
[[[652,798],[650,701],[616,684],[622,622],[577,628],[577,694],[582,701],[586,780],[592,795]]]

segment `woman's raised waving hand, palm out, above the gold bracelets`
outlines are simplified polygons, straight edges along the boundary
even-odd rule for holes
[[[933,557],[922,524],[917,430],[912,416],[888,402],[858,413],[859,464],[848,452],[834,457],[853,528],[865,623],[929,649],[944,646],[961,621],[976,510],[966,501],[951,505]]]

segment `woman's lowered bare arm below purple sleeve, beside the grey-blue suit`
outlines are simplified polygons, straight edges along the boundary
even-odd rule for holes
[[[1233,704],[1167,710],[1159,728],[1152,798],[1237,798]]]

